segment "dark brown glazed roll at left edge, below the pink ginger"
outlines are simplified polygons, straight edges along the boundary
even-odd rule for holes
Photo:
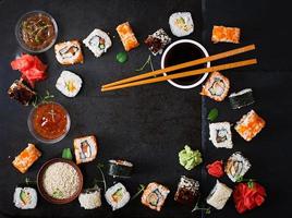
[[[36,93],[25,85],[22,80],[16,80],[12,83],[8,89],[8,95],[11,99],[15,99],[24,106],[28,106],[36,97]]]

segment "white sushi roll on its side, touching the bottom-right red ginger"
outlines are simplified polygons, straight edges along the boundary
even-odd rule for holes
[[[216,185],[207,197],[207,204],[216,209],[222,209],[231,194],[232,190],[217,180]]]

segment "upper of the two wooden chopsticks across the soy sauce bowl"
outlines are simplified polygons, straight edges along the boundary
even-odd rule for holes
[[[180,64],[177,64],[177,65],[171,65],[171,66],[160,69],[160,70],[157,70],[157,71],[153,71],[153,72],[149,72],[149,73],[144,73],[144,74],[136,75],[136,76],[133,76],[133,77],[129,77],[129,78],[124,78],[124,80],[117,81],[117,82],[113,82],[113,83],[109,83],[109,84],[102,85],[101,87],[107,88],[107,87],[111,87],[111,86],[115,86],[115,85],[121,85],[121,84],[124,84],[124,83],[134,82],[134,81],[138,81],[138,80],[142,80],[142,78],[147,78],[147,77],[150,77],[150,76],[159,75],[159,74],[162,74],[162,73],[168,73],[168,72],[175,71],[175,70],[181,70],[181,69],[184,69],[184,68],[198,65],[198,64],[206,63],[206,62],[209,62],[209,61],[223,59],[223,58],[235,56],[235,55],[239,55],[239,53],[244,53],[246,51],[251,51],[251,50],[254,50],[254,49],[255,49],[255,45],[244,46],[244,47],[241,47],[241,48],[224,51],[224,52],[217,53],[217,55],[214,55],[214,56],[209,56],[209,57],[206,57],[206,58],[200,58],[200,59],[197,59],[197,60],[188,61],[188,62],[185,62],[185,63],[180,63]]]

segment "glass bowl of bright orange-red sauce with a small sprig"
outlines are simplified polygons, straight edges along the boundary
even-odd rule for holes
[[[36,140],[53,144],[65,137],[71,120],[63,106],[50,101],[35,107],[28,116],[27,124]]]

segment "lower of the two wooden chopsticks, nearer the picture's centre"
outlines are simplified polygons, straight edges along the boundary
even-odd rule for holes
[[[187,76],[204,74],[204,73],[207,73],[207,72],[222,71],[222,70],[228,70],[228,69],[241,68],[241,66],[252,65],[252,64],[256,64],[256,63],[257,63],[256,59],[248,59],[248,60],[245,60],[245,61],[226,63],[226,64],[221,64],[221,65],[215,65],[215,66],[210,66],[210,68],[198,69],[198,70],[187,71],[187,72],[183,72],[183,73],[175,73],[175,74],[172,74],[172,75],[159,76],[159,77],[155,77],[155,78],[147,78],[147,80],[143,80],[143,81],[136,81],[136,82],[121,84],[121,85],[111,86],[111,87],[102,87],[101,92],[115,90],[115,89],[121,89],[121,88],[127,88],[127,87],[133,87],[133,86],[145,85],[145,84],[149,84],[149,83],[158,83],[158,82],[162,82],[162,81],[187,77]]]

